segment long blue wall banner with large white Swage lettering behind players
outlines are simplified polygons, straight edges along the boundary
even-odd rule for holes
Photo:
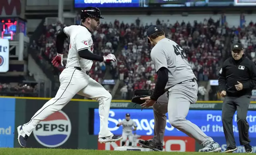
[[[116,127],[118,122],[125,119],[125,114],[130,113],[131,119],[137,124],[136,133],[142,136],[153,135],[154,129],[154,115],[153,110],[147,109],[141,111],[140,109],[111,109],[109,113],[109,129],[113,134],[122,134],[122,126]],[[168,116],[168,115],[167,115]],[[198,125],[200,129],[208,136],[222,137],[223,126],[221,121],[221,110],[190,110],[186,117],[189,121]],[[250,138],[256,138],[256,111],[248,111],[247,120],[250,124],[249,135]],[[238,135],[237,128],[237,113],[233,117],[234,135]],[[94,134],[99,134],[99,110],[94,110]],[[183,132],[175,129],[167,119],[165,127],[165,136],[186,136]]]

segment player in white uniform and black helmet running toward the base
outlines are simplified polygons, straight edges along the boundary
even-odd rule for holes
[[[91,33],[97,30],[100,19],[103,17],[98,8],[87,7],[81,11],[81,25],[67,26],[56,32],[58,54],[52,60],[52,64],[56,67],[60,64],[63,66],[63,43],[66,38],[69,38],[70,48],[66,68],[60,74],[60,87],[56,96],[46,102],[28,123],[17,127],[18,142],[22,147],[26,147],[27,138],[40,121],[61,110],[76,94],[99,102],[100,131],[98,140],[100,143],[116,142],[122,139],[122,136],[116,136],[108,129],[111,94],[88,76],[93,60],[100,62],[116,61],[112,54],[100,56],[92,53]]]

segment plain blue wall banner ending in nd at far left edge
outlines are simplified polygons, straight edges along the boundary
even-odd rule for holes
[[[0,147],[14,147],[15,98],[0,98]]]

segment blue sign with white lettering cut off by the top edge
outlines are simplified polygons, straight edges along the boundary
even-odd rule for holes
[[[75,8],[138,8],[140,0],[74,0]]]

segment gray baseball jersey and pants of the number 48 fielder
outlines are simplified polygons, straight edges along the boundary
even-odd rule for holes
[[[190,104],[197,100],[198,84],[182,48],[172,40],[163,38],[151,51],[151,59],[156,71],[161,67],[168,68],[167,91],[153,105],[155,125],[153,144],[163,145],[166,126],[166,113],[169,122],[176,129],[194,138],[199,144],[206,146],[213,141],[202,130],[186,120]]]

